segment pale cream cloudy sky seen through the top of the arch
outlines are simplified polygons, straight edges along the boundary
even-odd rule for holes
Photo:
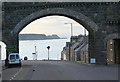
[[[28,24],[20,34],[46,34],[52,35],[57,34],[60,37],[70,38],[71,36],[71,25],[65,23],[73,24],[73,35],[84,34],[84,27],[64,16],[47,16],[37,19],[30,24]],[[87,32],[88,34],[88,32]]]

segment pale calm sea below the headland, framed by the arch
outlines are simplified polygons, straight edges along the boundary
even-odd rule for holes
[[[19,54],[21,59],[26,56],[28,60],[47,60],[49,54],[50,60],[60,60],[61,51],[69,41],[69,39],[20,40]],[[50,46],[49,52],[48,46]]]

